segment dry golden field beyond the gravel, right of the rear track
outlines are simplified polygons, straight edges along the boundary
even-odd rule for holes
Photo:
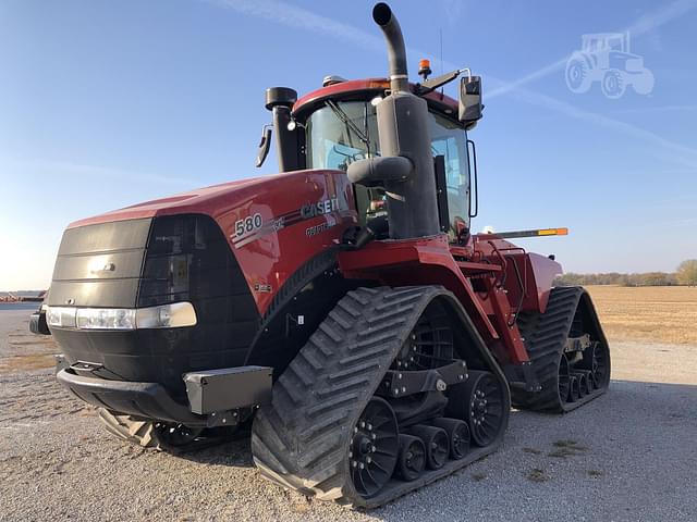
[[[697,288],[588,286],[610,340],[697,345]]]

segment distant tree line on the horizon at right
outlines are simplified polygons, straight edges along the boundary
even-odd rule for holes
[[[697,259],[683,261],[675,272],[646,272],[644,274],[576,274],[568,272],[554,279],[557,286],[619,285],[619,286],[697,286]]]

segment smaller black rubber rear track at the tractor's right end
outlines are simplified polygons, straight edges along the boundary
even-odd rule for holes
[[[559,400],[559,357],[584,294],[586,290],[580,286],[554,287],[545,313],[525,313],[518,318],[518,328],[542,389],[539,393],[512,389],[511,401],[516,408],[563,413],[575,410],[608,389],[606,385],[575,402],[562,403]],[[595,314],[595,310],[591,311]],[[601,341],[607,343],[604,336],[601,337]]]

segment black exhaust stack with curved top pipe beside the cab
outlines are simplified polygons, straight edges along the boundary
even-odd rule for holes
[[[384,34],[391,94],[377,105],[381,158],[348,165],[348,178],[382,186],[388,195],[390,237],[408,239],[439,234],[438,203],[426,100],[413,95],[400,24],[386,3],[372,9]]]

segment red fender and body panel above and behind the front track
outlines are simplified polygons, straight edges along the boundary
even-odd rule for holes
[[[342,252],[339,263],[347,277],[390,286],[443,285],[457,296],[499,359],[514,364],[528,361],[517,313],[543,311],[551,282],[561,273],[559,263],[548,258],[486,236],[470,237],[466,246],[452,248],[445,235],[374,241],[360,250]]]

